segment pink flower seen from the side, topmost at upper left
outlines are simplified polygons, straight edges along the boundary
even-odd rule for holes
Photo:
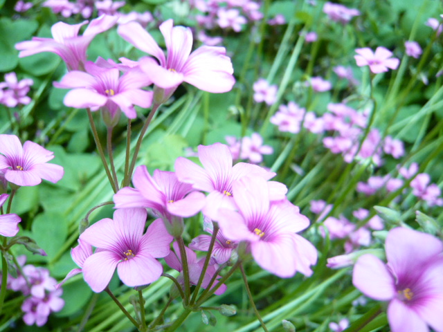
[[[28,57],[42,52],[55,53],[66,63],[69,71],[82,70],[87,59],[86,50],[92,39],[114,26],[117,19],[117,17],[107,15],[93,19],[82,36],[78,33],[88,21],[73,26],[58,22],[51,28],[54,39],[33,37],[30,41],[16,44],[15,48],[21,51],[19,57]]]

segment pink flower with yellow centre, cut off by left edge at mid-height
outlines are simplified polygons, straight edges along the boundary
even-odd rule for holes
[[[27,140],[23,147],[15,135],[0,135],[0,169],[6,180],[15,185],[38,185],[44,180],[56,183],[64,174],[63,167],[48,164],[51,151]]]

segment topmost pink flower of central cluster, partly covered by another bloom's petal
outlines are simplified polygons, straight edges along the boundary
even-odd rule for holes
[[[190,183],[195,190],[209,192],[203,213],[214,219],[219,208],[235,209],[233,202],[233,182],[243,176],[260,176],[269,180],[275,173],[268,172],[257,165],[237,163],[233,166],[233,157],[226,145],[199,145],[199,159],[204,168],[192,161],[179,157],[175,162],[175,169],[179,181]],[[286,186],[274,181],[268,182],[271,190],[271,199],[284,199]]]

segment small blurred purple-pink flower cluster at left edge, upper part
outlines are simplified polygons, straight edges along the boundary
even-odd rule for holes
[[[5,82],[0,82],[0,104],[6,107],[29,104],[31,99],[28,92],[33,84],[30,78],[17,80],[14,72],[5,74]]]

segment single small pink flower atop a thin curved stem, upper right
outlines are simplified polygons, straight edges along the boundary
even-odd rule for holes
[[[396,57],[391,57],[392,52],[382,46],[377,47],[375,53],[368,47],[356,48],[358,55],[354,55],[357,66],[369,66],[374,74],[384,73],[390,69],[397,69],[400,60]]]

